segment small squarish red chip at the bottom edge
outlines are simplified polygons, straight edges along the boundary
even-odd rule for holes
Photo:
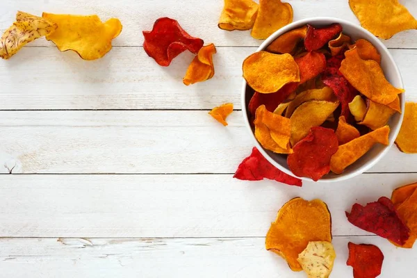
[[[348,243],[349,258],[354,278],[375,278],[381,274],[384,254],[375,245]]]

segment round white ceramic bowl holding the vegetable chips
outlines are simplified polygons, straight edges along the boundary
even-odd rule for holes
[[[353,24],[352,22],[347,22],[342,19],[333,18],[333,17],[313,17],[313,18],[302,19],[297,22],[293,22],[279,29],[272,35],[270,35],[270,37],[267,38],[265,42],[263,42],[256,51],[261,51],[265,49],[273,40],[278,38],[280,35],[288,31],[291,31],[294,28],[299,28],[301,26],[304,26],[305,24],[311,24],[315,27],[322,27],[322,26],[327,26],[332,23],[341,24],[343,26],[343,33],[345,33],[346,35],[350,35],[353,41],[363,38],[371,42],[378,49],[379,54],[381,54],[382,56],[381,66],[382,66],[382,70],[384,70],[386,79],[388,79],[388,81],[391,82],[391,84],[393,84],[394,87],[404,88],[400,71],[398,70],[397,65],[395,65],[393,57],[389,53],[388,49],[386,49],[384,44],[382,44],[382,42],[379,41],[379,39],[376,38],[375,35],[365,30],[361,26]],[[272,163],[272,165],[277,167],[279,170],[285,172],[286,174],[290,174],[293,177],[297,177],[295,176],[295,174],[293,174],[293,172],[291,172],[291,170],[289,170],[288,165],[286,163],[285,155],[275,154],[266,149],[263,149],[263,147],[261,147],[259,142],[256,140],[254,136],[254,131],[252,130],[250,126],[249,112],[247,111],[247,105],[249,104],[250,98],[252,97],[252,91],[248,89],[249,88],[247,86],[246,81],[243,81],[243,88],[242,88],[243,118],[245,120],[245,125],[247,126],[247,129],[251,133],[255,146],[259,149],[261,154],[265,156],[265,158],[267,158],[268,161],[270,161],[270,163]],[[404,111],[404,105],[405,105],[404,93],[400,94],[400,103],[401,103],[401,110]],[[362,174],[366,170],[370,169],[370,167],[373,167],[373,165],[375,165],[375,163],[377,163],[389,151],[389,148],[393,145],[394,140],[397,137],[398,132],[400,131],[403,115],[404,114],[395,113],[395,115],[393,115],[391,117],[391,120],[389,121],[391,132],[389,133],[389,145],[388,146],[384,146],[381,144],[375,145],[372,149],[370,149],[369,152],[367,152],[364,156],[359,158],[358,161],[356,161],[355,163],[347,167],[346,170],[342,174],[334,174],[330,172],[329,174],[325,175],[325,177],[322,177],[322,179],[320,179],[318,182],[343,181],[345,179],[350,179],[359,174]],[[311,179],[306,178],[306,177],[302,177],[300,179],[303,179],[306,181],[312,181]]]

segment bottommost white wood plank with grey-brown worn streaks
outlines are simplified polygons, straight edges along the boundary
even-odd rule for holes
[[[305,277],[292,272],[264,238],[1,238],[4,277]],[[381,278],[411,277],[417,250],[383,238],[337,237],[331,277],[352,277],[347,243],[377,245],[384,253]]]

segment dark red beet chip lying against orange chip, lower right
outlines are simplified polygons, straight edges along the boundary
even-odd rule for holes
[[[398,215],[391,199],[380,197],[378,202],[361,206],[354,204],[347,220],[365,231],[387,238],[398,245],[404,245],[410,236],[410,229]]]

